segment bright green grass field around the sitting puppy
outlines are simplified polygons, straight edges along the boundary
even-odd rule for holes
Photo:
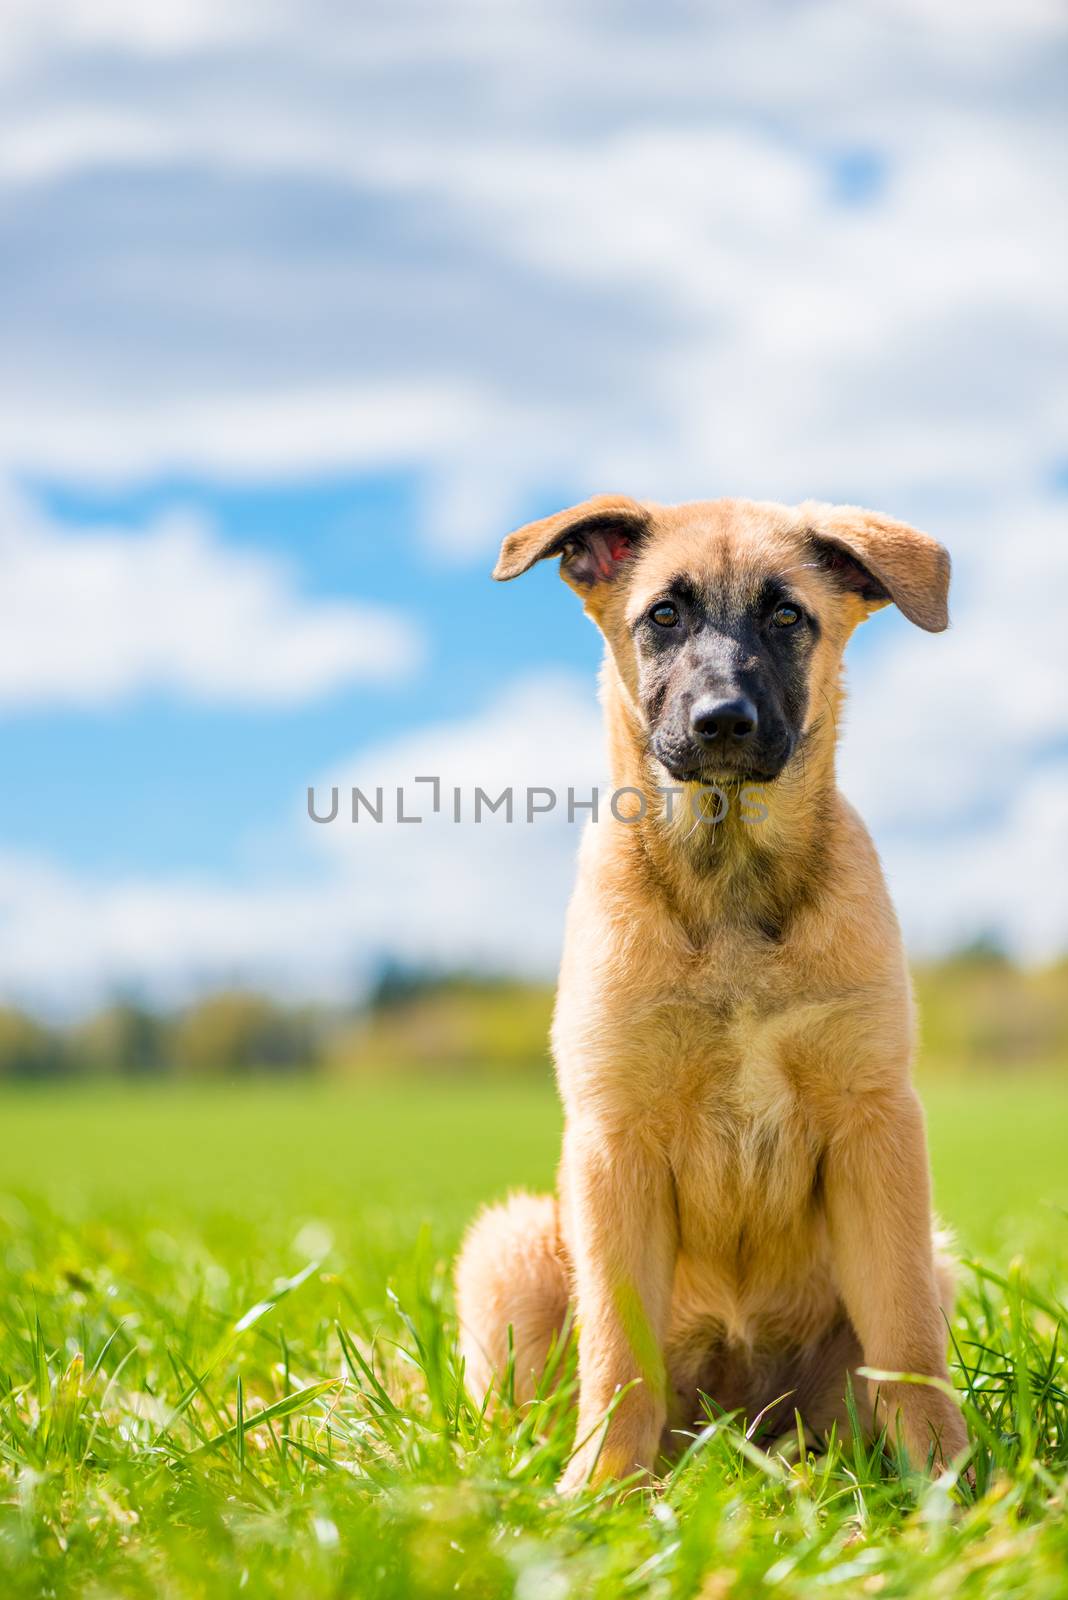
[[[572,1379],[480,1416],[448,1264],[547,1186],[537,1083],[0,1098],[0,1595],[1063,1597],[1068,1086],[932,1078],[975,1490],[716,1421],[564,1502]]]

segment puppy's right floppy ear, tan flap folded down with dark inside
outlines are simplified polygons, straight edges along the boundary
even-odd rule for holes
[[[835,582],[875,610],[894,602],[910,622],[929,634],[950,626],[950,552],[926,533],[859,506],[817,506],[809,546]]]

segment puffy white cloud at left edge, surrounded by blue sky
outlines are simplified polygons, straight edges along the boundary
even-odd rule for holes
[[[299,704],[408,672],[414,622],[302,597],[288,568],[189,518],[147,533],[61,533],[0,514],[0,709],[107,706],[152,690]]]

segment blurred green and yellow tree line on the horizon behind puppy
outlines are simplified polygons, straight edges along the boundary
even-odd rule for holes
[[[916,968],[924,1069],[1068,1070],[1068,958],[1022,970],[990,941]],[[552,986],[389,966],[357,1006],[222,990],[173,1011],[117,1000],[48,1024],[0,1006],[0,1082],[547,1072]]]

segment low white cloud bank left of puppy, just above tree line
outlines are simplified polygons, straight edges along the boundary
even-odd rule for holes
[[[430,790],[412,782],[419,774],[441,778],[436,818]],[[193,875],[99,880],[0,856],[0,995],[66,1011],[120,986],[181,998],[221,982],[264,982],[337,998],[385,954],[547,974],[579,842],[563,797],[569,784],[588,797],[603,778],[593,686],[534,677],[468,718],[369,747],[350,766],[320,774],[320,802],[334,782],[342,790],[384,786],[385,821],[352,824],[342,800],[339,819],[318,826],[301,795],[275,846],[291,864],[286,877],[251,886]],[[424,811],[425,822],[397,822],[398,784],[408,814]],[[494,798],[513,784],[515,821],[500,811],[475,826],[475,784]],[[467,800],[459,826],[454,786]],[[561,810],[528,824],[528,786],[556,789]]]

